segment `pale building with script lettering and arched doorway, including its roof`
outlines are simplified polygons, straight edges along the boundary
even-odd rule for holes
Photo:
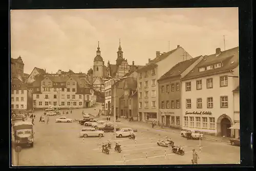
[[[232,137],[233,90],[239,84],[239,49],[232,48],[204,57],[182,79],[184,129]]]

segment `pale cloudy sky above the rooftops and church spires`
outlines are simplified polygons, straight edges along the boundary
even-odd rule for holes
[[[239,44],[238,8],[155,8],[11,10],[11,57],[22,57],[24,72],[87,71],[98,41],[107,65],[116,63],[119,39],[131,65],[145,65],[156,51],[180,45],[191,56]]]

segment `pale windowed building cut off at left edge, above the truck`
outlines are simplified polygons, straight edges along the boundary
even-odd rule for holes
[[[11,110],[27,110],[28,90],[27,84],[18,78],[11,79]]]

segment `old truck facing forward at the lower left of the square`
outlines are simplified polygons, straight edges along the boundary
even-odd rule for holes
[[[34,146],[33,124],[28,121],[19,121],[12,125],[12,142],[14,146]]]

